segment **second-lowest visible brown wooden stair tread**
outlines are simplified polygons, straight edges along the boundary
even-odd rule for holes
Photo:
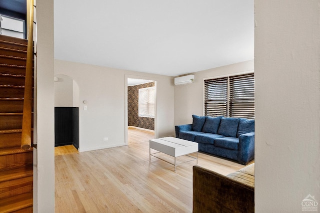
[[[6,170],[0,172],[0,182],[10,181],[18,178],[24,178],[33,175],[33,167],[21,167],[12,170]]]

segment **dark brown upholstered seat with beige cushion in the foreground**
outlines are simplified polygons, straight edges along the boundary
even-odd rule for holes
[[[254,164],[227,176],[193,166],[193,213],[253,213]]]

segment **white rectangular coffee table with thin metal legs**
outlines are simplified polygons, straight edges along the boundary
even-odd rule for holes
[[[174,157],[174,164],[154,156],[154,154],[156,154],[156,153],[151,154],[151,149],[158,151],[156,153],[162,152],[164,154],[167,154],[167,155]],[[188,155],[188,154],[191,154],[194,152],[196,152],[196,158]],[[153,156],[153,157],[158,158],[162,161],[165,161],[171,165],[174,165],[174,171],[175,171],[175,167],[179,164],[182,164],[182,163],[196,160],[196,164],[198,164],[198,153],[197,152],[198,152],[198,143],[195,143],[192,141],[187,141],[187,140],[174,138],[174,137],[165,137],[165,138],[158,138],[158,139],[149,140],[149,161],[151,161],[151,156]],[[182,156],[182,155],[187,155],[188,157],[192,158],[192,160],[176,164],[175,158]]]

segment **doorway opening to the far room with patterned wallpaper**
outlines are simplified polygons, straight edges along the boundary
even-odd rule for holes
[[[126,87],[127,145],[155,138],[156,81],[127,78]]]

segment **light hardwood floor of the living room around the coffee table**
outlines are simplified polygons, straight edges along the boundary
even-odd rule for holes
[[[170,160],[165,154],[160,157]],[[184,161],[186,157],[179,157]],[[148,142],[55,156],[56,213],[190,213],[192,166],[149,161]],[[198,153],[198,165],[223,175],[243,165]]]

